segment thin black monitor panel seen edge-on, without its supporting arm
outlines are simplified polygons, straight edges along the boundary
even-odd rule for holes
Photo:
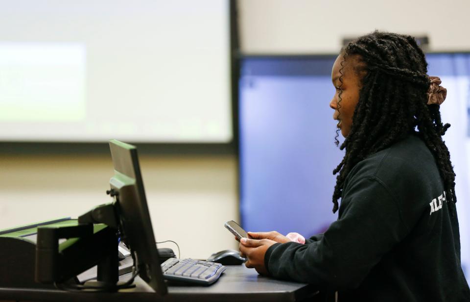
[[[143,189],[137,149],[118,140],[110,140],[109,147],[114,165],[114,176],[109,181],[110,193],[117,201],[121,240],[135,257],[139,276],[163,295],[167,288]]]

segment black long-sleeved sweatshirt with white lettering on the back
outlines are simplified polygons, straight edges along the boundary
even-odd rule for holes
[[[273,277],[338,291],[339,302],[470,301],[457,215],[414,134],[354,166],[324,234],[276,243],[264,262]]]

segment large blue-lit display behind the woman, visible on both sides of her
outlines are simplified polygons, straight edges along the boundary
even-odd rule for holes
[[[239,100],[240,214],[247,230],[323,232],[331,212],[333,144],[331,66],[336,55],[248,57]],[[461,261],[470,278],[470,54],[428,54],[428,74],[447,88],[443,139],[457,175]],[[263,215],[259,215],[263,213]]]

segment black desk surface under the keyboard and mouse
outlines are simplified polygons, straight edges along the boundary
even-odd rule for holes
[[[123,280],[129,274],[121,276]],[[228,266],[223,275],[211,286],[168,286],[168,294],[157,296],[139,277],[136,288],[118,293],[83,293],[59,290],[0,288],[0,301],[317,301],[318,291],[304,283],[281,281],[259,276],[244,265]],[[315,298],[315,297],[317,298]]]

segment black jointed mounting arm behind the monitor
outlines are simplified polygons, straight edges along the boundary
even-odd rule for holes
[[[118,236],[115,202],[79,216],[77,226],[38,227],[36,281],[63,283],[97,265],[97,281],[104,287],[116,287]],[[68,240],[59,244],[64,238]]]

